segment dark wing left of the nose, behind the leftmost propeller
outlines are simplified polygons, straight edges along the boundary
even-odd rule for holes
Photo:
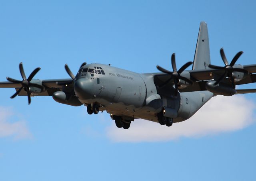
[[[72,79],[48,79],[48,80],[39,80],[40,83],[42,83],[42,86],[44,87],[44,91],[36,94],[36,96],[52,96],[52,94],[56,91],[62,91],[62,87],[65,85],[73,86],[73,80]],[[18,83],[11,83],[11,82],[0,82],[0,88],[15,88],[16,91],[22,87],[21,84]],[[26,91],[22,89],[19,94],[19,96],[27,96]]]

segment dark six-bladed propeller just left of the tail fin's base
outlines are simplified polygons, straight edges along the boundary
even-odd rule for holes
[[[163,85],[166,85],[170,80],[173,79],[174,81],[174,85],[175,85],[175,95],[178,94],[178,82],[179,82],[179,79],[183,80],[183,81],[186,81],[187,83],[189,83],[190,85],[193,84],[193,82],[186,78],[186,77],[182,77],[180,74],[186,69],[188,68],[191,64],[193,64],[193,62],[187,62],[185,63],[178,71],[177,71],[177,67],[176,67],[176,61],[175,61],[175,53],[172,54],[172,69],[173,69],[173,72],[171,71],[168,71],[162,67],[160,67],[159,65],[156,66],[156,68],[158,70],[160,70],[161,72],[163,73],[167,73],[169,75],[171,75],[171,78],[168,79],[166,82],[163,83]]]

